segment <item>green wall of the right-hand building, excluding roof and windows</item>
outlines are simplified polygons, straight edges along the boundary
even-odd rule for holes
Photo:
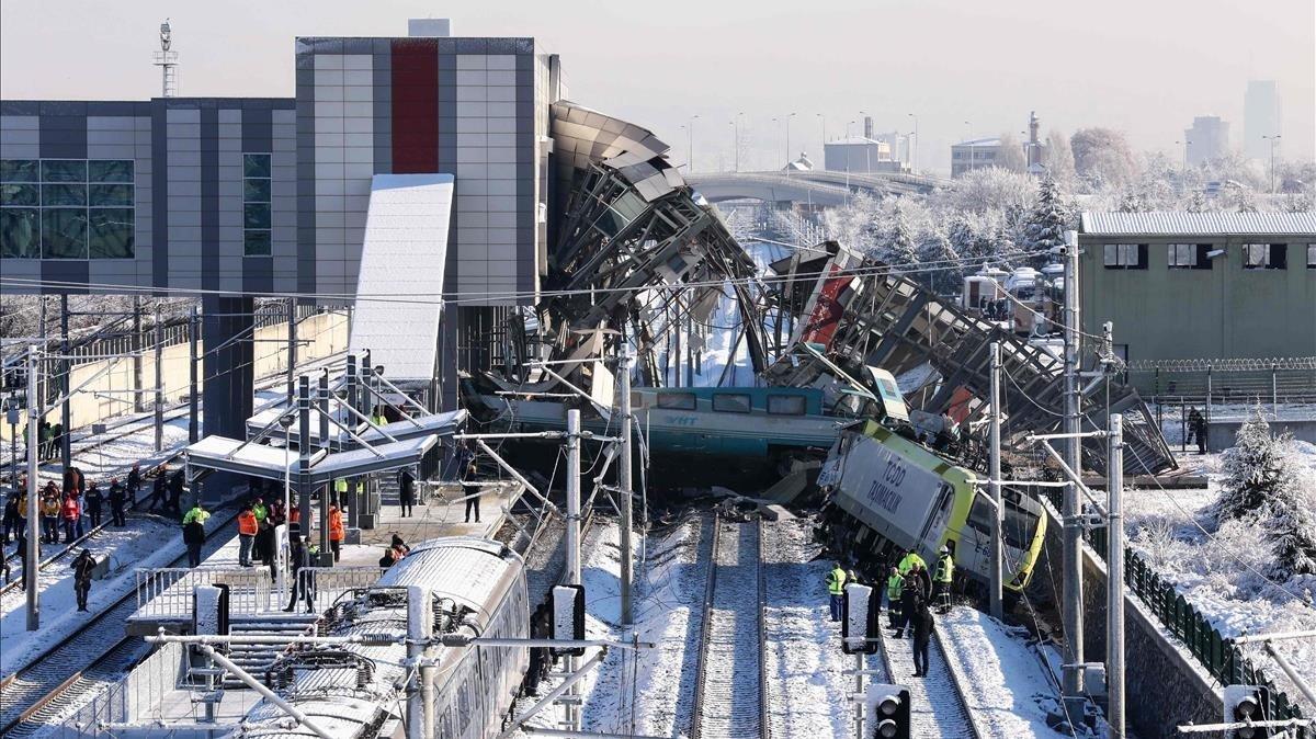
[[[1079,239],[1083,330],[1100,334],[1112,321],[1129,362],[1316,356],[1316,270],[1307,267],[1316,235]],[[1187,242],[1227,254],[1209,270],[1171,270],[1166,245]],[[1148,245],[1148,268],[1105,268],[1105,243]],[[1244,243],[1287,243],[1288,267],[1244,270]]]

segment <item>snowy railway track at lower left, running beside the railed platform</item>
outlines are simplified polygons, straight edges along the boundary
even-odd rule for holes
[[[234,512],[226,512],[215,530],[229,531],[234,517]],[[230,538],[211,535],[201,556],[215,554]],[[184,554],[168,567],[186,563]],[[33,735],[107,682],[121,677],[150,652],[142,639],[125,634],[128,617],[136,610],[137,590],[130,589],[67,639],[0,682],[0,736]]]

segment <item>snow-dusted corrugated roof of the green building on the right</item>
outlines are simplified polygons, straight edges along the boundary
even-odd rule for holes
[[[1083,213],[1092,235],[1302,235],[1316,237],[1316,213]]]

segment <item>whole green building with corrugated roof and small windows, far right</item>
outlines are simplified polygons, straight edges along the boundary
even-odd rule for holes
[[[1083,213],[1079,246],[1129,362],[1316,356],[1316,213]]]

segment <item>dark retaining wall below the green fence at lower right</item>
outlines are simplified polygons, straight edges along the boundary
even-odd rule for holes
[[[1046,546],[1029,584],[1029,598],[1054,602],[1062,593],[1062,533],[1059,518],[1048,508]],[[1084,546],[1083,558],[1084,661],[1105,661],[1105,564]],[[1055,604],[1057,611],[1059,605]],[[1183,651],[1137,596],[1124,598],[1125,718],[1140,739],[1177,736],[1175,727],[1190,721],[1212,723],[1223,705],[1213,684],[1196,660]]]

